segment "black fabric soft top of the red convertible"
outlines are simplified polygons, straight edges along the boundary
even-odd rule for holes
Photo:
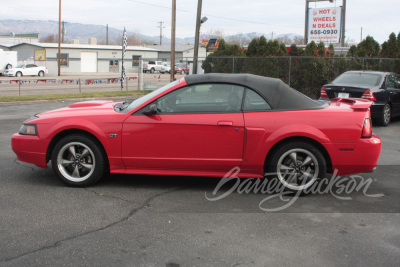
[[[210,73],[188,75],[185,80],[188,85],[227,83],[245,86],[262,95],[273,109],[302,110],[323,108],[325,106],[323,102],[312,100],[275,78],[253,74]]]

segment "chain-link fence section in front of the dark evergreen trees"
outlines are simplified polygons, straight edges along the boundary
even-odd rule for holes
[[[400,72],[400,59],[345,57],[208,57],[205,73],[251,73],[279,78],[318,98],[321,87],[348,70]]]

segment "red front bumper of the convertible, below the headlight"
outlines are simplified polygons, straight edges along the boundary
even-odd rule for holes
[[[47,143],[38,136],[14,134],[11,138],[11,148],[19,161],[47,168]]]

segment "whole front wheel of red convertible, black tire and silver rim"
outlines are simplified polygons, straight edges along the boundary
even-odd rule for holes
[[[51,164],[57,176],[74,187],[93,185],[108,172],[101,145],[82,134],[62,138],[53,149]]]

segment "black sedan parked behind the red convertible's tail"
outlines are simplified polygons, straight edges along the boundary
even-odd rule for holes
[[[321,88],[320,100],[364,98],[373,101],[371,117],[387,126],[400,115],[400,75],[379,71],[347,71]]]

